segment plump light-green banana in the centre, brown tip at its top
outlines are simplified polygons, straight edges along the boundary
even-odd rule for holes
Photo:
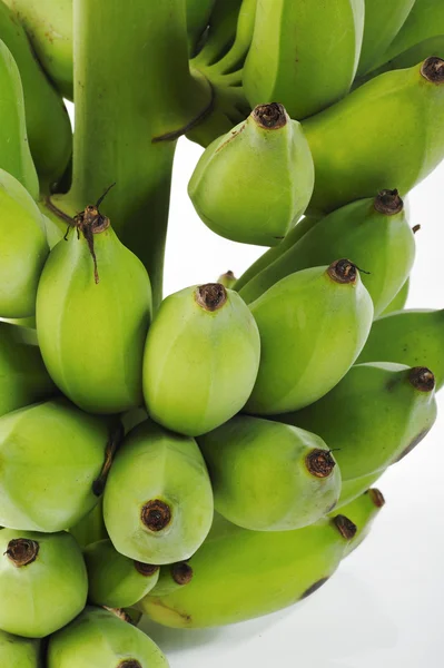
[[[210,283],[170,295],[145,348],[148,412],[182,434],[209,432],[245,405],[259,356],[257,325],[237,293]]]

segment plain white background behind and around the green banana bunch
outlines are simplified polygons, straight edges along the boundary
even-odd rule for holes
[[[194,212],[187,185],[201,153],[179,141],[166,295],[228,269],[240,275],[264,252],[216,236]],[[408,307],[444,308],[443,187],[444,164],[410,196],[412,226],[422,229]],[[313,597],[223,629],[144,622],[171,668],[443,668],[444,391],[438,403],[432,433],[378,481],[386,505],[371,536]]]

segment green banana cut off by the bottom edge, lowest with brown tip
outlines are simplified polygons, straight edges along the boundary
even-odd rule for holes
[[[49,639],[47,668],[168,668],[148,636],[112,612],[88,607]]]

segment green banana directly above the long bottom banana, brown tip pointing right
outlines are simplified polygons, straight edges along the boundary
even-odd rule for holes
[[[307,431],[237,415],[198,443],[216,510],[245,529],[299,529],[330,512],[339,498],[336,462]]]

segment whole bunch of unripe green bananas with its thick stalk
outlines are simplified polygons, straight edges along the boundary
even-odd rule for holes
[[[124,9],[0,0],[0,666],[167,668],[142,616],[310,596],[444,385],[444,310],[405,308],[407,197],[444,158],[441,0]],[[268,249],[159,299],[180,135],[204,224]]]

